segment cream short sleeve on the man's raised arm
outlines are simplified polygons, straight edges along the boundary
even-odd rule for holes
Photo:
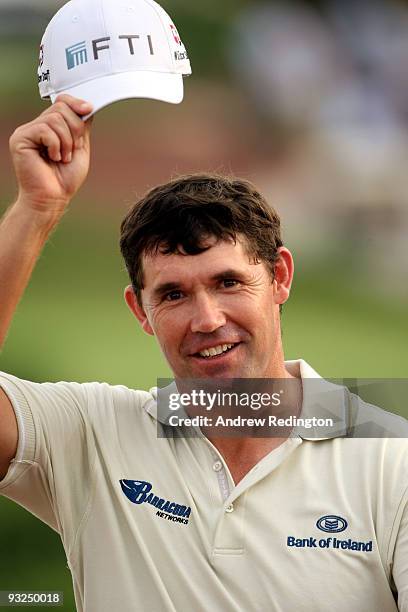
[[[32,383],[0,374],[0,386],[16,414],[15,459],[0,494],[60,533],[69,548],[92,489],[94,441],[87,415],[87,387]]]

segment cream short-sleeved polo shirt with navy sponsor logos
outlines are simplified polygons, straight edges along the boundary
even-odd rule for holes
[[[405,439],[293,436],[235,486],[205,437],[157,437],[152,393],[0,384],[19,425],[0,493],[58,531],[79,611],[408,612]]]

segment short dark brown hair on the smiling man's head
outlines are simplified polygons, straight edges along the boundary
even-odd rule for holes
[[[198,255],[206,239],[246,238],[247,252],[271,272],[283,245],[280,218],[250,182],[195,174],[179,177],[149,191],[136,202],[121,225],[120,249],[141,303],[143,255]]]

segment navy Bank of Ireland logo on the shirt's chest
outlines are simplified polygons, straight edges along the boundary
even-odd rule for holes
[[[345,518],[337,516],[335,514],[327,514],[320,517],[316,521],[316,527],[320,531],[326,533],[340,533],[348,528],[348,522]],[[354,550],[357,552],[372,552],[373,542],[360,542],[358,540],[352,540],[348,538],[346,540],[340,540],[339,538],[314,538],[309,536],[306,538],[298,538],[296,536],[288,536],[286,540],[288,548],[331,548],[335,550]]]

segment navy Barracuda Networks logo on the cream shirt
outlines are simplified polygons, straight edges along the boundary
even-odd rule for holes
[[[155,495],[150,482],[144,480],[120,480],[119,482],[123,493],[133,504],[150,504],[157,508],[156,516],[188,525],[191,514],[190,506],[183,506]]]

